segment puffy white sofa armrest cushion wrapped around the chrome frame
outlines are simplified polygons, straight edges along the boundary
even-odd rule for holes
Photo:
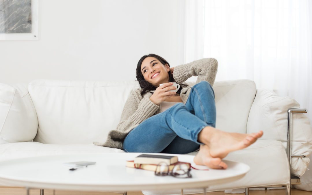
[[[263,130],[261,139],[281,141],[287,149],[288,109],[300,108],[298,102],[290,97],[280,97],[267,89],[257,89],[255,100],[247,121],[247,133]],[[292,175],[302,176],[309,165],[307,158],[312,152],[312,129],[304,113],[292,116]],[[304,157],[300,157],[304,156]]]

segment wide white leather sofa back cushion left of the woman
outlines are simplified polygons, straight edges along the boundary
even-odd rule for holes
[[[103,141],[119,123],[135,81],[34,80],[28,90],[38,115],[34,141],[91,144]]]

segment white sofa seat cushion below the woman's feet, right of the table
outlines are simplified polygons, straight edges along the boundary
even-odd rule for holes
[[[196,155],[197,152],[189,153]],[[257,140],[246,149],[229,153],[226,160],[245,163],[250,171],[245,177],[231,183],[209,186],[211,191],[280,185],[289,182],[289,166],[285,149],[280,141]],[[192,173],[192,171],[191,171]],[[142,191],[144,194],[181,194],[181,190]],[[202,189],[184,189],[185,194],[203,193]]]

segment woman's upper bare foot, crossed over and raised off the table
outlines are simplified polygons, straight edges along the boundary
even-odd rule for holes
[[[206,126],[198,134],[198,141],[208,146],[211,157],[224,158],[229,152],[246,148],[255,143],[262,135],[263,131],[252,134],[227,133]]]

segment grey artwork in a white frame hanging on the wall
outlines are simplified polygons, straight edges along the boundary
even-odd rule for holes
[[[38,40],[39,0],[0,0],[0,40]]]

